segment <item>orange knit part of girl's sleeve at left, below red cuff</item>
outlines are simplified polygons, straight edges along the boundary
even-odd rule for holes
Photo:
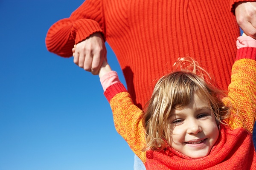
[[[145,163],[145,133],[141,119],[142,111],[134,105],[128,92],[121,92],[110,100],[116,131],[129,144],[131,150]]]

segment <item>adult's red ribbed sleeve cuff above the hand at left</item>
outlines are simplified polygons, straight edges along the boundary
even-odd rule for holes
[[[99,26],[95,20],[90,19],[80,19],[73,23],[72,29],[72,37],[75,40],[75,44],[85,40],[90,35],[100,32],[102,33],[102,37],[105,39],[105,34],[102,31],[102,28]]]

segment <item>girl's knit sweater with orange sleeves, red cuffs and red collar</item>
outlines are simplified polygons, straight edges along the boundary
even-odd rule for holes
[[[232,68],[231,84],[224,102],[232,102],[231,117],[221,125],[220,135],[208,156],[191,159],[172,147],[160,152],[145,146],[145,131],[141,110],[132,102],[131,96],[120,83],[105,91],[110,101],[117,132],[127,141],[134,153],[143,161],[147,170],[256,170],[256,152],[252,140],[256,121],[256,48],[238,50]],[[116,94],[115,94],[116,93]]]

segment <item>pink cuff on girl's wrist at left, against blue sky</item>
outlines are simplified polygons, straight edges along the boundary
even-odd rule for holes
[[[115,84],[115,83],[120,82],[120,80],[119,80],[119,78],[118,78],[118,76],[117,76],[116,71],[110,71],[110,72],[104,74],[104,75],[100,78],[99,81],[101,82],[102,88],[103,88],[104,91],[106,91],[106,89],[107,89],[109,86],[111,86],[111,85],[113,85],[113,84]]]

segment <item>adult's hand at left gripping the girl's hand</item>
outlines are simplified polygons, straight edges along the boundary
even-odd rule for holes
[[[74,63],[93,75],[99,74],[103,60],[107,59],[105,42],[98,32],[76,44],[72,51]]]

